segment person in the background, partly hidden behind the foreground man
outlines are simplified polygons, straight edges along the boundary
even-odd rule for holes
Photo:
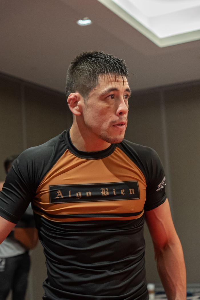
[[[11,155],[4,161],[6,174],[18,155]],[[0,182],[0,190],[3,182]],[[0,300],[6,300],[12,290],[13,300],[25,299],[30,257],[28,250],[37,244],[33,211],[28,206],[25,214],[17,223],[14,230],[0,244]]]

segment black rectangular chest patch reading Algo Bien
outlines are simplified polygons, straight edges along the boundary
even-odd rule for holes
[[[49,186],[50,203],[140,199],[137,181]]]

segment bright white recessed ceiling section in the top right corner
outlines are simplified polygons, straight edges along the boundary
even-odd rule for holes
[[[200,40],[200,0],[98,0],[159,47]]]

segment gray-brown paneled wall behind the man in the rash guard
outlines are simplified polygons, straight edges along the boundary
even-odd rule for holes
[[[0,180],[3,161],[59,134],[72,123],[64,94],[0,76]],[[184,250],[187,281],[200,280],[199,136],[200,82],[134,92],[130,100],[126,138],[150,146],[159,154],[167,177],[167,194]],[[145,227],[149,282],[160,283],[151,238]],[[31,252],[29,300],[43,295],[45,260],[40,244]]]

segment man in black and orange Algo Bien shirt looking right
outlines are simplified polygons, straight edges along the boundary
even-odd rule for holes
[[[0,194],[2,239],[32,201],[46,255],[43,299],[149,299],[145,217],[168,299],[186,299],[163,167],[154,150],[123,140],[128,75],[113,55],[78,55],[66,80],[72,127],[23,152]]]

